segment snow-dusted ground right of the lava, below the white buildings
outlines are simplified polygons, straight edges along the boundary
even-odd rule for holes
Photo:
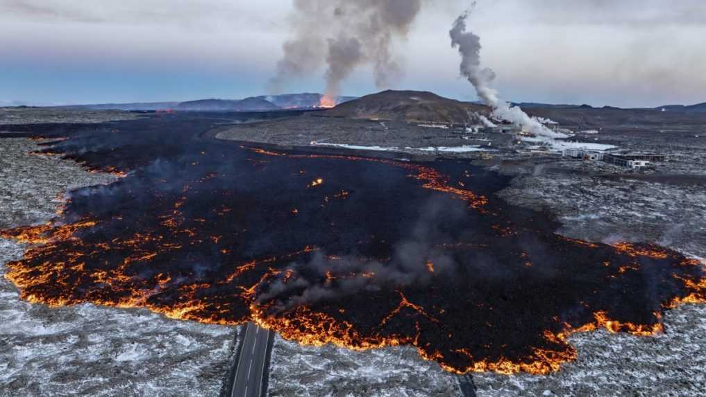
[[[500,195],[512,204],[551,210],[564,236],[606,243],[646,241],[706,257],[703,185],[550,172],[517,177]]]

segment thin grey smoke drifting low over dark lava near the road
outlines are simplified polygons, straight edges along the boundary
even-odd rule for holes
[[[405,239],[395,245],[389,263],[361,259],[360,255],[331,258],[316,252],[308,262],[290,264],[277,279],[263,283],[257,302],[274,302],[270,310],[286,312],[300,305],[355,293],[424,286],[432,280],[432,275],[453,277],[460,265],[443,245],[435,246],[432,242],[452,243],[455,238],[443,228],[463,217],[460,203],[449,205],[430,200],[421,207],[419,218]],[[469,266],[480,269],[485,263],[478,261]]]

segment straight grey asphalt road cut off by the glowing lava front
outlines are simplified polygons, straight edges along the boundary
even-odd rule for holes
[[[246,325],[235,369],[232,397],[262,396],[268,343],[270,331],[253,323]]]

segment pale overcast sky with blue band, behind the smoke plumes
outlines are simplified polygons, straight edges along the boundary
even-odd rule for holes
[[[426,0],[396,87],[476,99],[448,30],[469,1]],[[266,94],[292,0],[0,0],[0,102],[145,102]],[[322,20],[321,23],[326,23]],[[704,0],[480,0],[469,28],[508,100],[706,101]],[[288,92],[321,92],[323,68]],[[345,94],[377,90],[361,69]]]

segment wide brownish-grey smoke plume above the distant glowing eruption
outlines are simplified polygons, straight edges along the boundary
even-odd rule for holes
[[[314,73],[325,63],[325,96],[335,98],[358,66],[371,64],[375,83],[388,87],[401,68],[391,47],[404,39],[421,0],[295,0],[294,38],[282,46],[270,91],[281,92],[292,78]]]

